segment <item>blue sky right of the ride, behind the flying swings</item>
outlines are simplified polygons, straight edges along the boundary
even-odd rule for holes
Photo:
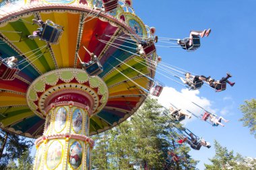
[[[256,140],[249,134],[249,129],[238,122],[243,116],[238,108],[246,99],[256,97],[255,6],[256,1],[253,0],[133,1],[135,13],[146,25],[154,26],[160,37],[185,38],[189,36],[190,30],[212,29],[209,37],[201,39],[201,47],[195,52],[157,47],[157,53],[162,56],[163,62],[199,75],[211,75],[214,79],[220,79],[230,72],[233,75],[230,81],[236,82],[234,87],[228,85],[226,91],[220,93],[203,87],[198,93],[181,91],[183,86],[159,74],[156,74],[156,79],[170,87],[169,92],[175,91],[173,97],[185,94],[199,103],[202,100],[209,101],[205,107],[230,122],[224,128],[213,128],[210,124],[194,119],[185,126],[211,143],[216,139],[228,150],[248,157],[256,157]],[[220,114],[221,111],[224,115]],[[210,163],[207,160],[215,155],[215,150],[202,148],[201,151],[191,151],[191,155],[200,161],[199,169],[204,169],[203,163]]]

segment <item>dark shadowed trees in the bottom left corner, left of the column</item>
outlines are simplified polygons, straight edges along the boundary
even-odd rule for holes
[[[9,161],[20,158],[32,145],[25,137],[0,130],[0,169],[6,167]]]

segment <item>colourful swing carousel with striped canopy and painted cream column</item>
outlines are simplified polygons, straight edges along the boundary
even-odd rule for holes
[[[129,118],[151,87],[162,90],[155,28],[131,0],[0,7],[1,128],[37,138],[34,169],[90,169],[90,136]]]

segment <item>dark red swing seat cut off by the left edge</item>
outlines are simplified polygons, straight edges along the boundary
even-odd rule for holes
[[[9,67],[7,63],[3,62],[3,59],[0,57],[0,79],[6,81],[12,81],[15,79],[15,75],[18,75],[19,69],[17,65],[15,67]]]

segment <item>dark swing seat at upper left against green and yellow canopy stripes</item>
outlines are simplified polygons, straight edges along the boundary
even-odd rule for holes
[[[51,44],[58,44],[63,34],[63,27],[51,24],[42,24],[39,36],[42,40]]]

